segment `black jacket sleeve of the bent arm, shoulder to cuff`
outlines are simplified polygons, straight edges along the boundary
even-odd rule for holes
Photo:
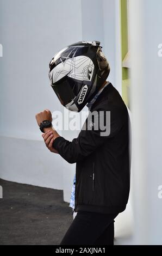
[[[98,147],[101,147],[109,137],[115,136],[122,127],[121,115],[116,114],[115,111],[113,113],[110,112],[110,116],[106,112],[102,112],[102,114],[97,114],[96,116],[94,117],[94,123],[93,121],[89,121],[90,119],[86,119],[78,137],[74,138],[71,142],[63,137],[58,137],[54,140],[53,147],[58,150],[58,153],[68,163],[83,160],[84,157],[90,155]],[[106,129],[103,129],[100,125],[95,127],[97,120],[101,120],[102,117],[104,117],[103,124]]]

